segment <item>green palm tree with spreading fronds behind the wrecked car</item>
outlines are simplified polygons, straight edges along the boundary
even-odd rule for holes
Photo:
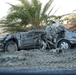
[[[53,7],[48,12],[48,9],[53,3],[49,0],[42,9],[42,3],[39,0],[19,0],[20,5],[11,5],[8,15],[0,21],[2,27],[10,32],[26,31],[26,26],[31,24],[31,28],[40,29],[43,22],[47,24]],[[8,3],[9,4],[9,3]]]

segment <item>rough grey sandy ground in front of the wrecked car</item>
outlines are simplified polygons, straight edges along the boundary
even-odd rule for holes
[[[76,70],[76,49],[62,53],[50,51],[21,50],[14,53],[0,52],[0,69]]]

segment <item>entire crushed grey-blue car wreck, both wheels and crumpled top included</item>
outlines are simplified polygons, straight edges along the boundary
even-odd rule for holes
[[[17,32],[0,39],[0,49],[8,52],[20,49],[70,49],[73,44],[76,44],[76,32],[66,29],[59,21],[45,30]]]

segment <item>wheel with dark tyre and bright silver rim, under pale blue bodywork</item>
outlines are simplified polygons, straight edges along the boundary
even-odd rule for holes
[[[61,40],[58,42],[57,47],[61,49],[70,49],[71,43],[68,40]]]

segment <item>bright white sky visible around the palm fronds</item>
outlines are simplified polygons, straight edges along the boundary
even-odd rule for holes
[[[40,1],[44,6],[48,0]],[[6,2],[11,4],[19,4],[18,0],[0,0],[0,19],[8,14],[10,5],[8,5]],[[54,5],[55,7],[52,13],[54,13],[54,11],[58,9],[55,15],[68,14],[72,13],[73,10],[76,9],[76,0],[54,0],[52,6]]]

